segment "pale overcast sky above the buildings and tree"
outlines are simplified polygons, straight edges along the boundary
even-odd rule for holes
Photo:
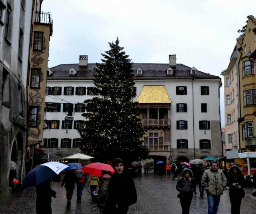
[[[108,42],[120,46],[136,63],[177,63],[220,76],[229,63],[238,29],[256,16],[255,0],[44,0],[52,13],[48,67],[101,62]],[[222,77],[222,76],[221,76]],[[222,78],[223,83],[223,78]],[[221,123],[224,125],[221,87]]]

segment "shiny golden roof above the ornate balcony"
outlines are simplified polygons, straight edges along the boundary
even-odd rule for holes
[[[165,86],[143,86],[137,102],[171,103]]]

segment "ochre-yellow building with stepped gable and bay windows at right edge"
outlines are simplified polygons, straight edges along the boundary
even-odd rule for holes
[[[237,38],[237,60],[239,75],[239,96],[241,116],[238,119],[240,134],[240,152],[255,151],[256,139],[256,89],[255,89],[255,67],[249,56],[256,49],[256,19],[250,15],[247,24]]]

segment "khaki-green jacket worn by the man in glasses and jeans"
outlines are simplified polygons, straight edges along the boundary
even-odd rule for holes
[[[227,178],[220,169],[216,172],[207,169],[203,173],[201,183],[207,195],[222,195],[226,189]]]

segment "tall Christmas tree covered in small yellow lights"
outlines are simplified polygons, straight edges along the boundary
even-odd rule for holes
[[[94,68],[95,87],[90,93],[97,96],[83,103],[85,120],[78,129],[80,148],[101,161],[145,158],[149,149],[142,145],[146,132],[139,117],[139,103],[134,101],[132,62],[118,38],[109,45],[111,50],[102,54],[103,63],[96,63]]]

